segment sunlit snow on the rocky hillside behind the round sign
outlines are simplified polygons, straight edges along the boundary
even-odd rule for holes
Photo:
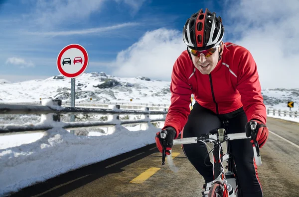
[[[62,77],[62,75],[58,75]],[[94,87],[114,79],[121,85],[113,88]],[[169,104],[170,92],[163,93],[163,89],[169,89],[170,81],[142,80],[141,78],[104,76],[98,72],[83,73],[76,78],[76,94],[81,96],[76,102],[125,102],[130,103],[160,103]],[[79,85],[80,84],[80,85]],[[128,84],[134,85],[129,87]],[[29,80],[18,83],[5,83],[0,85],[1,102],[39,102],[39,98],[61,98],[63,103],[70,102],[71,79],[49,77],[45,80]],[[80,89],[79,89],[80,88]],[[14,91],[11,91],[11,90]],[[158,94],[158,95],[156,95]],[[152,99],[152,95],[156,95]],[[90,98],[92,100],[90,101]]]

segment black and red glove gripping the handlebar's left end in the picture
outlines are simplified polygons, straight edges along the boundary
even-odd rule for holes
[[[173,138],[176,135],[176,131],[174,128],[168,127],[166,129],[156,133],[156,136],[155,136],[156,146],[159,149],[159,151],[162,152],[163,145],[162,145],[162,139],[161,139],[160,133],[166,134],[166,154],[170,155],[170,150],[173,145]]]

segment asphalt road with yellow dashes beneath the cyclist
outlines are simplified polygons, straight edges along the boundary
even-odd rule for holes
[[[299,123],[268,118],[269,140],[258,173],[264,197],[299,197]],[[296,146],[297,145],[297,146]],[[178,173],[161,166],[155,144],[63,174],[11,197],[201,197],[202,177],[179,145]],[[175,154],[176,153],[176,154]]]

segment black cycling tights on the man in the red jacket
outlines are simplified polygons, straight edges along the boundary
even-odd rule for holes
[[[195,103],[188,117],[188,122],[183,129],[182,137],[198,137],[211,130],[223,128],[223,120],[229,121],[227,133],[245,132],[247,117],[243,108],[226,115],[216,115]],[[232,140],[230,143],[243,196],[263,197],[262,186],[253,160],[254,153],[250,139]],[[213,181],[213,167],[204,164],[204,158],[208,153],[205,144],[185,144],[183,150],[195,169],[203,176],[205,182]],[[206,160],[207,165],[211,164],[208,160]]]

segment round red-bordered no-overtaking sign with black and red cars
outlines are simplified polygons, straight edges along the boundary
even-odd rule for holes
[[[77,78],[86,70],[88,62],[87,51],[81,45],[70,44],[59,52],[56,65],[63,76]]]

